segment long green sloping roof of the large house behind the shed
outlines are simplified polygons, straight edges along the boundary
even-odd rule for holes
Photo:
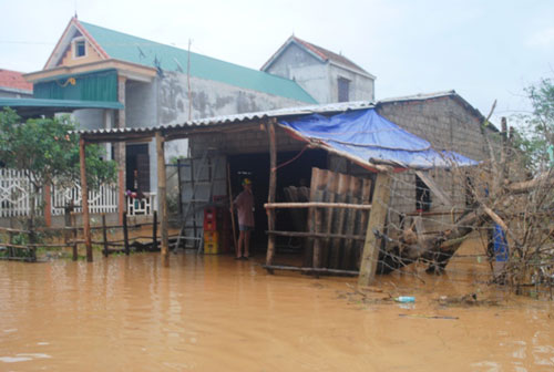
[[[110,58],[186,73],[188,51],[79,21]],[[296,82],[191,52],[191,75],[234,86],[317,103]]]

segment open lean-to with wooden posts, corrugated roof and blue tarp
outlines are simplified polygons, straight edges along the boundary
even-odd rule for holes
[[[300,156],[309,149],[324,149],[332,156],[325,159],[325,167],[334,169],[334,163],[347,159],[348,164],[373,173],[373,200],[371,207],[346,203],[334,208],[369,209],[367,229],[360,264],[360,282],[369,282],[377,267],[379,234],[384,224],[386,208],[390,193],[390,172],[407,168],[449,167],[454,164],[474,164],[468,157],[455,153],[440,152],[431,143],[400,128],[380,116],[375,105],[367,102],[318,105],[300,108],[277,110],[263,113],[248,113],[186,122],[179,125],[146,128],[112,128],[81,133],[81,149],[84,154],[86,143],[134,142],[155,137],[157,149],[158,211],[162,221],[162,256],[168,265],[167,205],[165,185],[164,143],[188,138],[192,157],[199,157],[208,149],[229,156],[247,156],[259,162],[267,154],[267,256],[266,268],[271,271],[275,255],[276,234],[276,188],[279,154],[297,153]],[[288,154],[287,154],[288,153]],[[300,154],[300,155],[299,155]],[[204,155],[205,156],[205,155]],[[289,162],[297,158],[294,156]],[[316,156],[317,158],[317,156]],[[280,159],[279,159],[280,161]],[[317,161],[314,161],[317,163]],[[84,166],[84,159],[81,159]],[[285,162],[288,163],[288,162]],[[316,166],[312,164],[311,166]],[[376,176],[377,174],[377,176]],[[82,177],[84,178],[84,172]],[[306,175],[307,177],[309,175]],[[82,185],[85,185],[82,179]],[[83,187],[83,205],[86,205],[86,189]],[[304,205],[316,210],[330,205]],[[90,226],[86,208],[83,209],[84,230],[90,246]],[[315,214],[316,225],[318,214]],[[317,232],[317,231],[316,231]],[[317,236],[316,241],[318,241]],[[348,238],[348,237],[347,237]],[[350,237],[351,238],[351,237]],[[320,247],[314,248],[314,269],[318,269]]]

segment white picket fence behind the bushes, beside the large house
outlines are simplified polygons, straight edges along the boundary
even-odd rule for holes
[[[21,217],[30,213],[30,185],[25,174],[21,170],[0,168],[0,218]],[[35,197],[35,210],[43,205],[43,193]],[[144,199],[127,199],[129,215],[151,215],[155,208],[155,194],[145,194]],[[51,211],[52,216],[63,215],[64,207],[69,204],[81,205],[81,186],[51,187]],[[102,185],[98,190],[89,192],[89,209],[93,214],[117,211],[117,187],[115,185]],[[75,211],[81,211],[75,207]]]

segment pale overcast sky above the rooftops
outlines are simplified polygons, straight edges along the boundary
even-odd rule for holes
[[[0,69],[41,70],[71,17],[259,69],[290,34],[377,76],[378,100],[455,90],[484,115],[526,110],[554,76],[554,1],[0,0]]]

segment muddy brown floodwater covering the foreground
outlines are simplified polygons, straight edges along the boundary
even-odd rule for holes
[[[0,371],[553,371],[552,303],[458,269],[357,291],[224,256],[1,261]]]

